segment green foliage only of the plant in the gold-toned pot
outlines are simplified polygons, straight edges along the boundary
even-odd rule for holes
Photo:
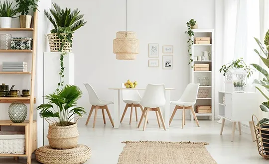
[[[30,9],[33,9],[33,11],[35,12],[36,10],[38,10],[38,1],[39,0],[16,0],[18,12],[20,12],[21,15],[28,15]]]

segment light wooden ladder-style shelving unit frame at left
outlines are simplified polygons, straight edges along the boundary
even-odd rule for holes
[[[21,74],[31,75],[30,97],[0,97],[0,103],[12,103],[14,101],[21,101],[29,103],[29,120],[23,123],[12,123],[10,120],[0,120],[0,126],[24,126],[25,127],[25,154],[0,154],[0,157],[27,157],[27,164],[31,164],[32,153],[37,149],[37,129],[36,121],[33,120],[34,109],[34,84],[35,84],[35,65],[36,65],[36,38],[37,38],[37,12],[33,16],[33,28],[0,28],[0,31],[30,31],[32,32],[33,45],[32,50],[0,50],[0,53],[31,53],[32,67],[30,72],[0,72],[0,74]],[[21,55],[21,54],[20,54]],[[1,56],[0,56],[1,58]],[[1,77],[2,78],[2,77]],[[7,77],[4,77],[7,78]]]

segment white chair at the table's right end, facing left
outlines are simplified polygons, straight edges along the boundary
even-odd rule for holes
[[[189,83],[187,87],[185,88],[182,96],[179,98],[179,100],[170,101],[170,104],[173,104],[176,106],[170,118],[169,125],[171,124],[177,109],[183,109],[182,110],[182,128],[183,128],[186,123],[185,109],[190,109],[196,121],[197,126],[200,127],[196,114],[194,112],[194,109],[192,107],[196,103],[199,85],[200,85],[199,83]]]

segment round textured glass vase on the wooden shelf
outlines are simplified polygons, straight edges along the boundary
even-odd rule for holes
[[[27,116],[27,106],[22,102],[13,102],[8,107],[9,119],[14,123],[22,123]]]

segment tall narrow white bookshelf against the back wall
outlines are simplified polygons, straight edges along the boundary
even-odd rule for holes
[[[196,104],[193,106],[194,110],[197,105],[211,105],[212,113],[196,113],[197,118],[199,116],[207,116],[212,121],[214,120],[215,113],[215,35],[214,29],[193,29],[194,38],[196,37],[210,37],[211,44],[193,44],[192,45],[192,59],[194,56],[203,56],[203,51],[210,51],[211,56],[207,61],[193,61],[189,65],[189,82],[198,83],[198,77],[207,77],[209,79],[209,86],[200,86],[199,89],[209,89],[209,95],[205,98],[197,98]],[[193,40],[194,40],[193,38]],[[194,71],[194,64],[209,64],[209,71]],[[191,120],[193,121],[193,115],[190,112]]]

